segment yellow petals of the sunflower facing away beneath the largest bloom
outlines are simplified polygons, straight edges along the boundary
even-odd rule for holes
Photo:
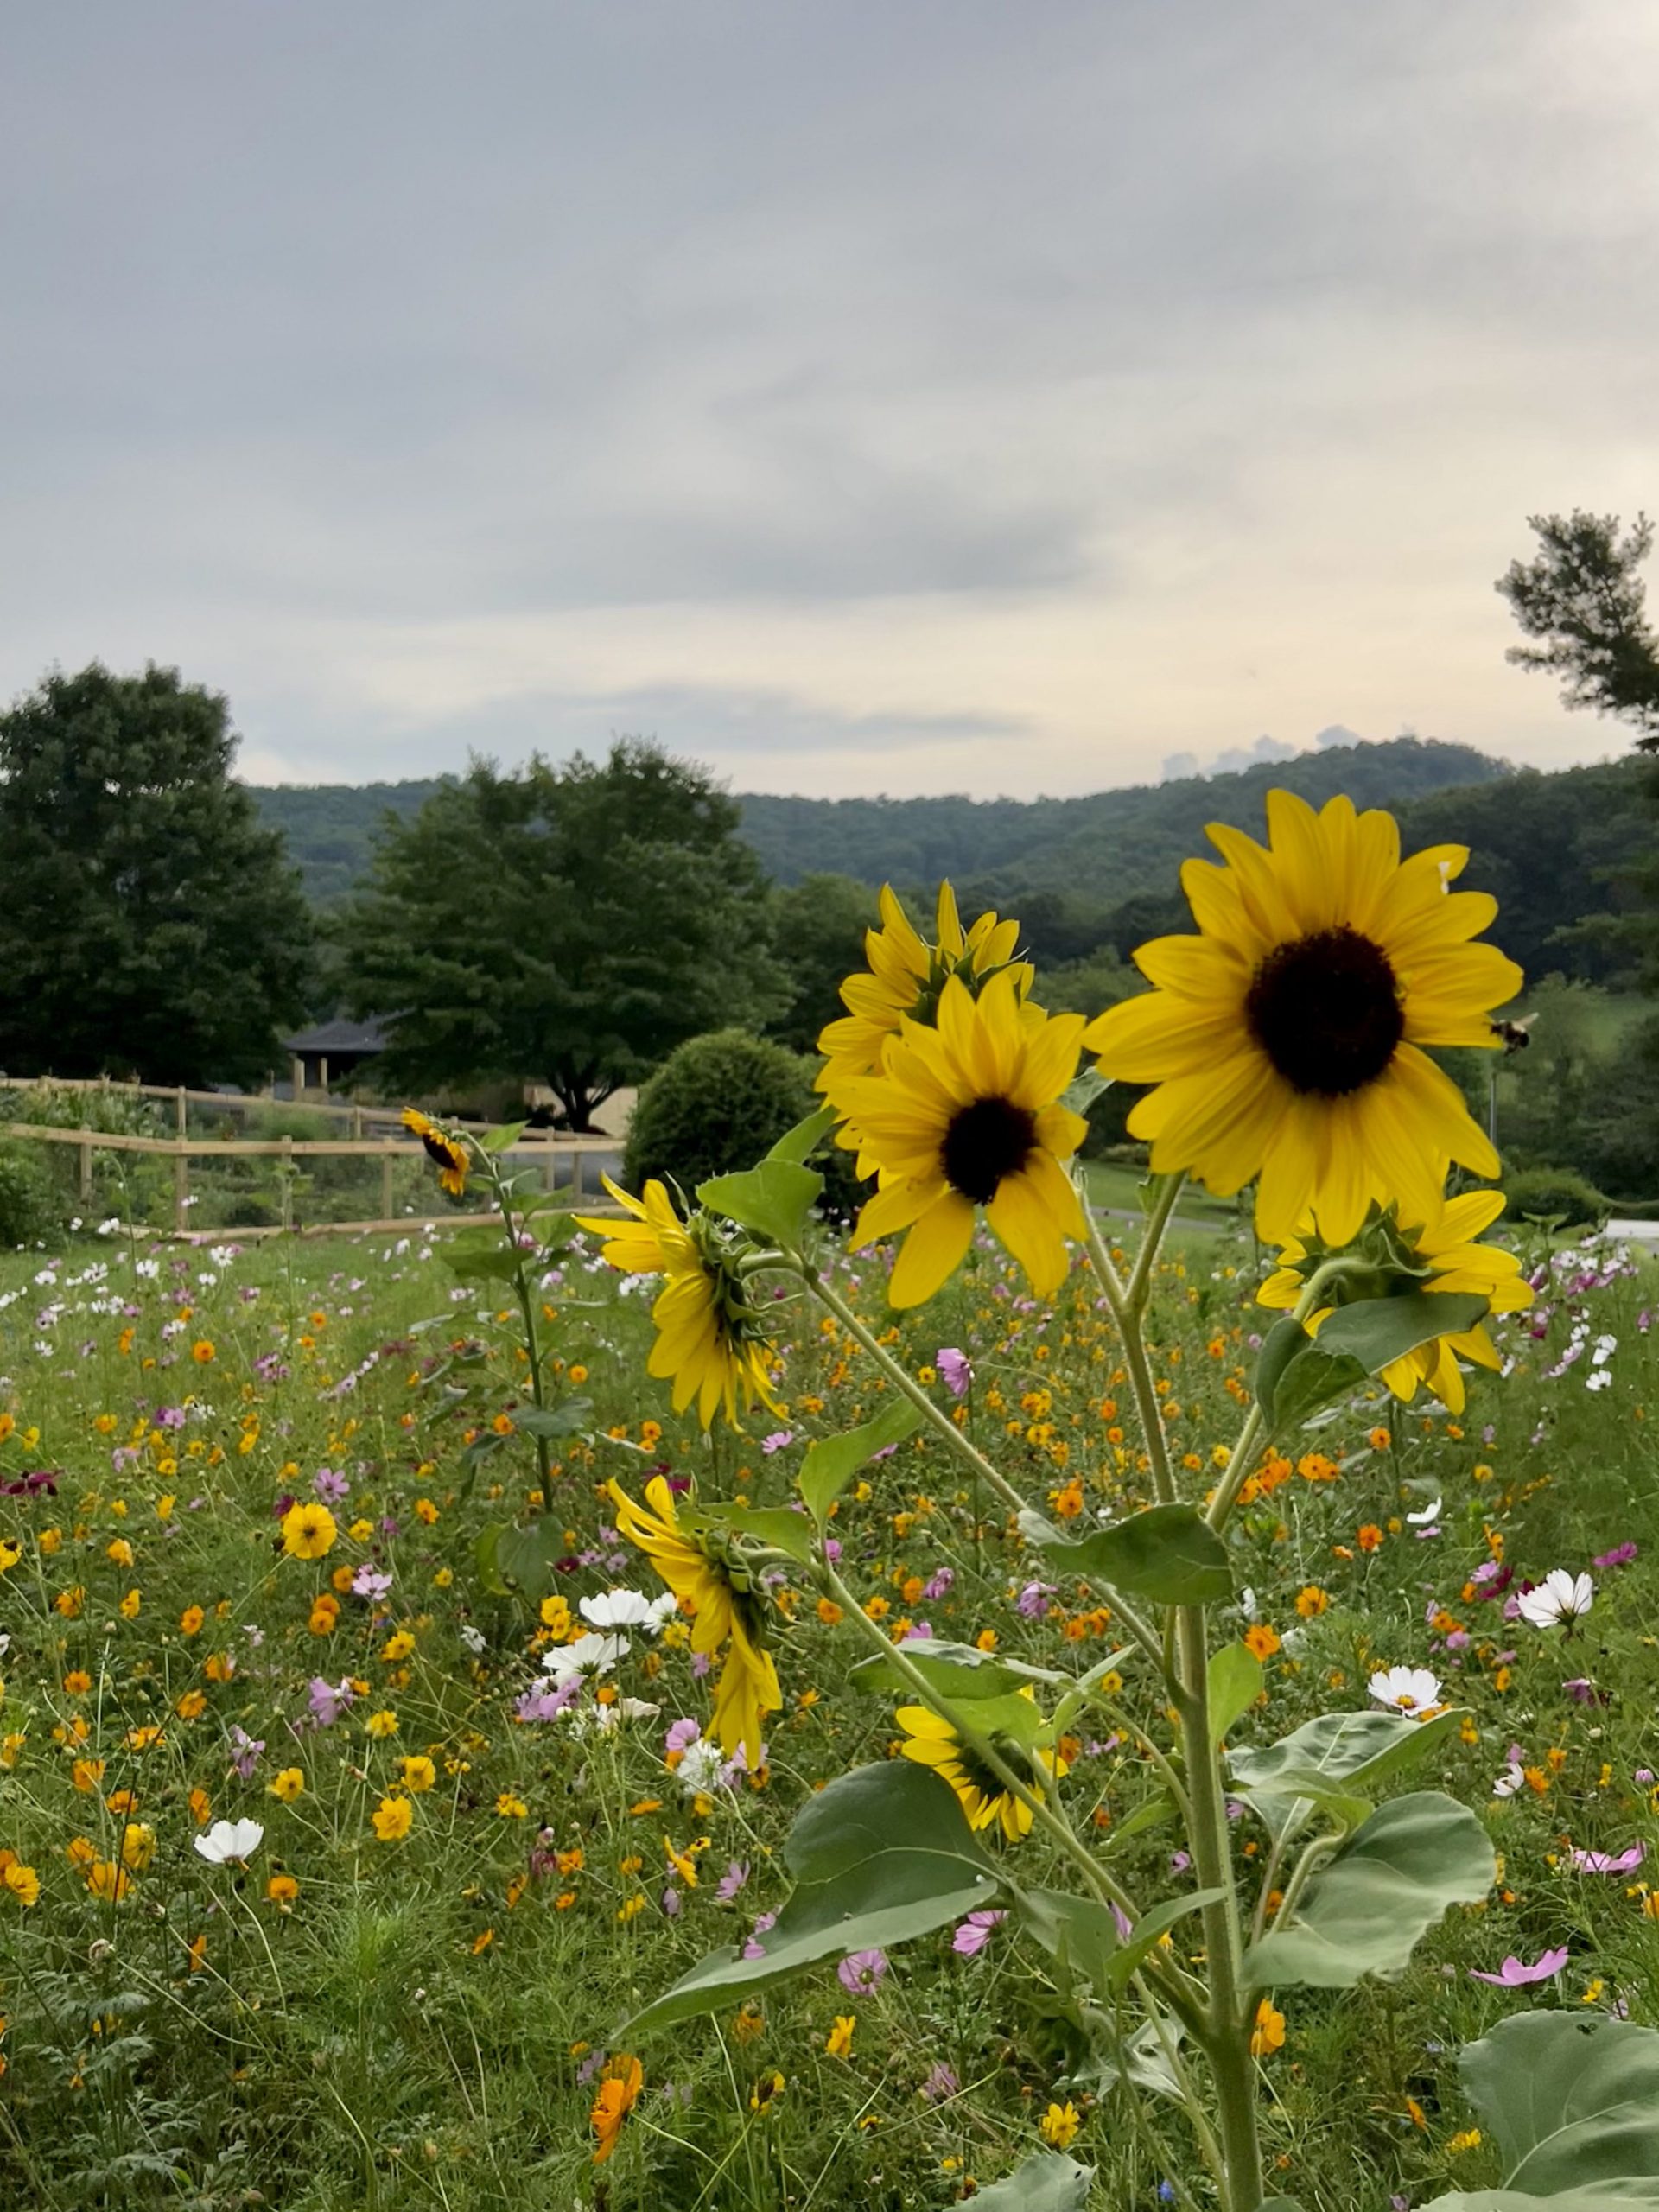
[[[1502,1190],[1467,1190],[1458,1199],[1438,1199],[1420,1228],[1394,1230],[1387,1221],[1383,1225],[1405,1248],[1413,1270],[1429,1270],[1418,1287],[1431,1294],[1475,1292],[1486,1301],[1489,1314],[1517,1314],[1533,1303],[1533,1290],[1520,1272],[1520,1261],[1513,1252],[1478,1241],[1502,1210]],[[1256,1292],[1256,1303],[1290,1312],[1301,1298],[1307,1276],[1327,1256],[1329,1248],[1321,1243],[1312,1223],[1305,1225],[1303,1234],[1294,1237],[1279,1254],[1279,1267]],[[1310,1314],[1310,1336],[1318,1334],[1332,1312],[1334,1307],[1327,1305]],[[1427,1385],[1451,1413],[1462,1413],[1460,1358],[1473,1360],[1478,1367],[1502,1367],[1484,1321],[1478,1321],[1473,1329],[1431,1336],[1427,1345],[1391,1360],[1383,1369],[1383,1380],[1402,1405],[1409,1405],[1418,1387]]]

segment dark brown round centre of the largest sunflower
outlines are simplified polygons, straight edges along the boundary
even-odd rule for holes
[[[1250,984],[1245,1020],[1287,1084],[1327,1099],[1374,1082],[1405,1035],[1387,953],[1358,929],[1276,945]]]

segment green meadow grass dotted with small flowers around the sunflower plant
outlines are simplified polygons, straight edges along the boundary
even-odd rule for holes
[[[1093,1188],[1117,1203],[1113,1170]],[[1201,1212],[1194,1201],[1194,1232],[1159,1272],[1150,1329],[1179,1407],[1172,1436],[1199,1462],[1183,1475],[1192,1489],[1237,1431],[1228,1383],[1248,1376],[1263,1318],[1241,1274],[1250,1248],[1203,1234]],[[157,1272],[135,1274],[135,1261]],[[885,1325],[878,1272],[854,1276],[856,1301]],[[1562,1267],[1562,1283],[1573,1276]],[[553,1577],[571,1604],[613,1582],[653,1588],[644,1562],[599,1535],[613,1511],[604,1480],[637,1491],[668,1462],[710,1495],[781,1502],[801,1442],[765,1455],[759,1436],[869,1418],[880,1378],[810,1316],[783,1314],[787,1416],[703,1440],[644,1374],[648,1301],[573,1265],[544,1296],[560,1391],[591,1400],[593,1442],[564,1451],[542,1500],[522,1436],[482,1455],[465,1444],[473,1429],[493,1436],[520,1369],[495,1298],[456,1287],[418,1234],[407,1250],[338,1239],[223,1261],[111,1239],[60,1261],[0,1261],[0,1294],[15,1294],[0,1312],[0,1402],[15,1425],[0,1480],[58,1471],[55,1495],[0,1498],[4,1555],[18,1553],[0,1575],[11,1637],[0,1847],[40,1876],[38,1905],[0,1896],[0,2203],[909,2212],[960,2201],[969,2174],[1002,2177],[1035,2146],[1077,2055],[1042,1955],[1011,1924],[971,1960],[949,1938],[894,1951],[872,1997],[821,1971],[770,1997],[754,2033],[732,2011],[639,2044],[646,2093],[615,2157],[593,2166],[584,2064],[639,2002],[776,1909],[790,1818],[814,1785],[880,1759],[896,1730],[891,1705],[847,1681],[858,1657],[847,1628],[821,1626],[810,1601],[781,1635],[785,1710],[763,1787],[697,1803],[664,1765],[670,1721],[708,1714],[684,1637],[637,1644],[624,1661],[622,1690],[659,1705],[655,1717],[613,1734],[520,1723],[513,1708],[549,1630],[535,1604],[484,1586],[478,1533],[544,1509],[580,1562]],[[1298,1451],[1316,1444],[1340,1464],[1338,1480],[1292,1475],[1239,1524],[1237,1579],[1285,1637],[1267,1708],[1241,1739],[1365,1705],[1374,1663],[1431,1663],[1478,1739],[1453,1736],[1418,1781],[1467,1798],[1504,1858],[1493,1900],[1431,1931],[1398,1984],[1281,1995],[1287,2039],[1263,2064],[1263,2126],[1283,2159],[1279,2185],[1307,2212],[1491,2185],[1489,2146],[1449,2148],[1469,2124],[1453,2055],[1504,2013],[1586,1997],[1617,1997],[1635,2020],[1659,2013],[1659,1920],[1644,1911],[1641,1874],[1579,1876],[1566,1856],[1568,1843],[1641,1840],[1659,1863],[1639,1781],[1659,1767],[1648,1436],[1659,1378],[1637,1327],[1648,1296],[1637,1276],[1555,1296],[1542,1338],[1509,1329],[1515,1371],[1473,1378],[1460,1422],[1402,1413],[1394,1444],[1374,1449],[1367,1431],[1387,1420],[1374,1405],[1301,1438]],[[1619,1338],[1606,1389],[1586,1389],[1588,1352],[1548,1376],[1579,1316],[1586,1340]],[[1141,1500],[1117,1349],[1086,1276],[1033,1310],[1000,1259],[975,1252],[938,1305],[898,1327],[914,1369],[940,1345],[969,1352],[971,1431],[1033,1502],[1064,1511],[1073,1482],[1091,1511]],[[195,1358],[197,1345],[212,1356]],[[580,1383],[571,1367],[586,1371]],[[161,1409],[184,1409],[184,1425]],[[310,1498],[319,1469],[349,1482],[338,1540],[316,1562],[283,1557],[276,1504]],[[1405,1513],[1431,1495],[1440,1535],[1418,1540]],[[1380,1531],[1380,1548],[1365,1551],[1360,1528]],[[975,1531],[958,1464],[933,1442],[874,1467],[838,1531],[845,1573],[887,1608],[887,1626],[927,1619],[960,1639],[993,1628],[1002,1650],[1068,1670],[1102,1650],[1106,1624],[1079,1590],[1055,1590],[1037,1619],[1015,1608],[1033,1562],[1002,1520]],[[1462,1595],[1495,1548],[1517,1575],[1542,1577],[1626,1540],[1639,1557],[1597,1571],[1595,1613],[1571,1644]],[[338,1624],[319,1632],[314,1599],[341,1566],[392,1582],[378,1599],[341,1597]],[[925,1595],[929,1582],[938,1595]],[[1296,1610],[1305,1590],[1327,1599],[1310,1619]],[[1427,1624],[1431,1601],[1453,1635],[1467,1630],[1460,1650]],[[186,1632],[192,1606],[204,1626]],[[365,1690],[314,1728],[314,1677]],[[1577,1677],[1606,1701],[1564,1692]],[[365,1730],[374,1712],[396,1714],[394,1736]],[[234,1730],[263,1743],[248,1776]],[[1544,1787],[1498,1801],[1511,1743]],[[434,1761],[434,1787],[409,1798],[409,1836],[383,1843],[374,1812],[396,1794],[405,1754]],[[104,1761],[91,1787],[77,1787],[75,1759]],[[279,1803],[268,1785],[290,1765],[305,1790]],[[246,1871],[197,1856],[192,1790],[215,1818],[265,1825]],[[111,1809],[117,1792],[133,1792],[133,1814]],[[1066,1792],[1075,1818],[1093,1832],[1099,1812],[1110,1836],[1148,1794],[1148,1772],[1091,1736]],[[155,1832],[153,1858],[124,1898],[97,1898],[69,1851],[86,1838],[113,1863],[128,1818]],[[1237,1834],[1250,1851],[1248,1825]],[[695,1856],[695,1889],[664,1838]],[[1042,1840],[1020,1851],[1029,1878],[1055,1876]],[[1168,1851],[1170,1832],[1126,1843],[1126,1878],[1168,1889]],[[734,1865],[745,1882],[721,1902]],[[288,1909],[268,1896],[279,1874],[299,1885]],[[1571,1962],[1540,1991],[1469,1980],[1471,1966],[1555,1942]],[[841,2013],[856,2013],[845,2059],[823,2048]],[[936,2068],[956,2093],[938,2095]],[[765,2095],[774,2073],[783,2088]],[[1115,2093],[1079,2104],[1073,2148],[1097,2168],[1095,2205],[1150,2205],[1166,2170],[1192,2174],[1179,2115],[1157,2115],[1166,2150],[1152,2154]]]

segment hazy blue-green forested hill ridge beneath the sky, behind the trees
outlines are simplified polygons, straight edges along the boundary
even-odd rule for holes
[[[1075,889],[1117,902],[1161,891],[1199,847],[1208,821],[1261,830],[1274,785],[1323,803],[1400,807],[1458,785],[1515,772],[1471,745],[1396,737],[1332,745],[1223,776],[1183,776],[1088,792],[1082,799],[790,799],[741,796],[743,834],[779,883],[836,872],[863,883],[971,880],[987,896]],[[319,902],[345,896],[367,872],[387,812],[414,814],[436,776],[409,783],[254,785],[265,821],[283,830],[305,889]]]

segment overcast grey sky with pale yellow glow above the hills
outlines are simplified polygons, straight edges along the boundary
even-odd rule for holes
[[[1659,9],[0,24],[0,695],[175,661],[254,781],[1626,750],[1491,584],[1659,507]]]

